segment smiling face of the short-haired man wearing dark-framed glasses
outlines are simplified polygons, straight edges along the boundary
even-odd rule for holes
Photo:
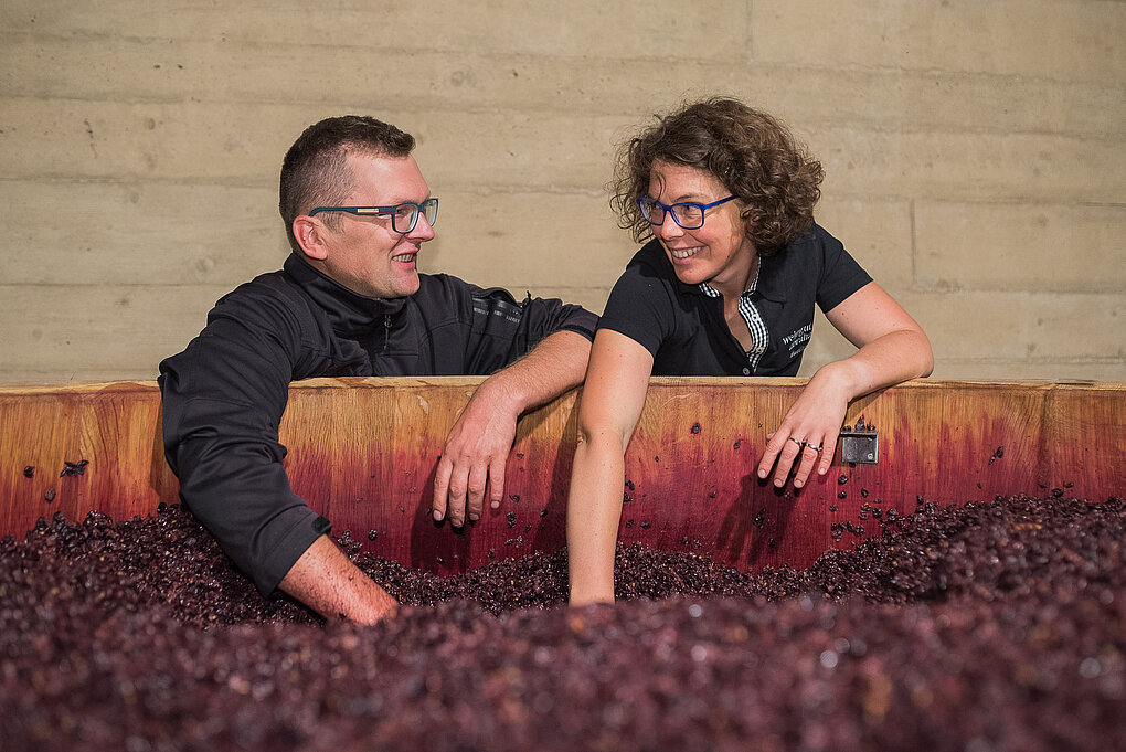
[[[343,206],[421,204],[430,189],[413,156],[401,159],[350,154],[356,189]],[[368,297],[403,297],[419,289],[415,257],[434,227],[420,215],[408,233],[395,232],[390,215],[336,214],[338,230],[322,223],[323,271],[348,289]]]

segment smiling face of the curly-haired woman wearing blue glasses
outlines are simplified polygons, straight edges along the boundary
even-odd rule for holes
[[[650,171],[649,195],[662,204],[694,202],[711,204],[731,194],[711,172],[670,162],[655,161]],[[740,216],[740,200],[713,206],[704,213],[704,226],[685,230],[665,212],[664,222],[653,225],[653,234],[687,285],[708,283],[725,295],[738,295],[747,285],[754,265],[754,247],[747,238]],[[736,289],[738,288],[738,289]]]

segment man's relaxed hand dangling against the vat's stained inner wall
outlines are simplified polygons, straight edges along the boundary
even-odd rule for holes
[[[485,487],[493,509],[504,498],[504,471],[520,411],[503,381],[490,378],[473,393],[446,437],[434,478],[434,518],[455,527],[481,519]]]

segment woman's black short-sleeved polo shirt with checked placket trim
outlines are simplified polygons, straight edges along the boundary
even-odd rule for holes
[[[653,240],[614,285],[598,328],[649,350],[654,376],[795,376],[813,331],[813,305],[831,311],[869,281],[841,242],[816,224],[763,257],[749,294],[768,331],[767,349],[754,367],[727,329],[723,298],[677,279]]]

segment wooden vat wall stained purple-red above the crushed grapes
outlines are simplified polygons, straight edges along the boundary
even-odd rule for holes
[[[294,490],[336,535],[351,530],[373,553],[443,574],[557,549],[575,392],[520,420],[501,509],[463,531],[429,516],[443,439],[480,381],[294,384],[280,429]],[[863,417],[878,432],[876,464],[843,464],[838,453],[825,477],[776,491],[754,467],[804,384],[654,378],[626,455],[620,539],[742,570],[807,566],[877,535],[888,510],[910,513],[920,499],[1126,493],[1126,384],[928,381],[850,405],[849,424]],[[0,535],[23,536],[56,511],[72,521],[90,510],[122,520],[179,501],[152,382],[0,388]],[[81,474],[61,474],[82,460]],[[865,507],[882,510],[881,519]]]

